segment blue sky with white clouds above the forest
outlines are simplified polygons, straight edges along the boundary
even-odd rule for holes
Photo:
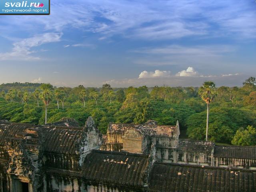
[[[0,16],[0,84],[242,86],[256,76],[255,0],[51,0]]]

